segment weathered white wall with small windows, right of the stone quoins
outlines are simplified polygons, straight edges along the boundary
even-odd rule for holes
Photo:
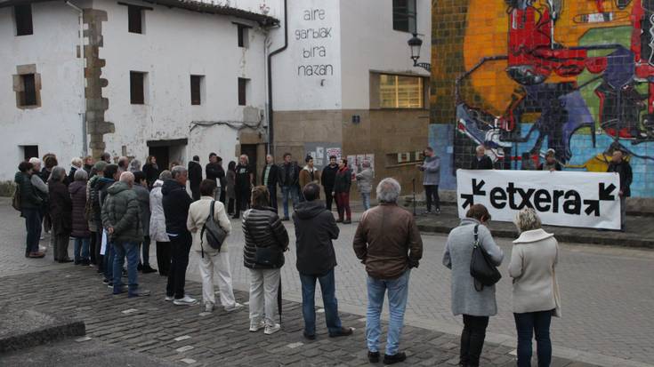
[[[149,4],[145,4],[147,6]],[[237,26],[228,17],[154,6],[145,11],[145,32],[127,31],[127,7],[95,1],[94,7],[108,13],[103,24],[106,60],[102,76],[109,80],[103,95],[109,99],[106,121],[116,133],[105,135],[107,150],[127,154],[141,162],[148,156],[148,140],[189,139],[188,154],[202,163],[209,152],[226,161],[235,156],[238,131],[226,125],[196,128],[192,121],[241,122],[244,107],[238,106],[238,76],[250,79],[247,105],[265,107],[263,36],[250,29],[249,47],[239,48]],[[178,27],[172,25],[177,24]],[[130,103],[130,71],[148,73],[145,105]],[[205,76],[202,104],[190,104],[190,76]]]

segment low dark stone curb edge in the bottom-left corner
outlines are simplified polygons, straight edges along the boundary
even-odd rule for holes
[[[28,347],[37,347],[69,337],[86,334],[84,321],[62,322],[35,331],[0,338],[0,353],[12,352]]]

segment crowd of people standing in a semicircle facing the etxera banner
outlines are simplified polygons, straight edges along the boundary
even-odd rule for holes
[[[430,159],[433,158],[431,148],[425,156],[427,159],[419,168],[425,172],[425,180],[435,186],[435,196],[431,190],[432,204],[438,210],[438,177],[433,175],[440,167]],[[38,158],[20,163],[15,178],[19,188],[14,206],[20,209],[26,222],[26,257],[44,257],[44,251],[39,248],[44,228],[51,232],[54,260],[96,267],[113,294],[127,293],[128,298],[149,296],[150,291],[139,284],[138,271],[144,274],[158,271],[167,277],[165,300],[176,306],[191,306],[198,304],[198,300],[186,293],[185,276],[190,251],[195,251],[205,311],[214,310],[217,283],[222,307],[232,312],[243,305],[236,301],[232,289],[229,241],[219,241],[216,248],[216,240],[209,239],[209,235],[215,238],[215,228],[230,235],[233,228],[228,215],[232,214],[242,219],[241,230],[245,235],[243,265],[250,275],[249,331],[263,330],[270,335],[281,328],[277,303],[280,269],[285,265],[284,252],[289,250],[289,235],[282,222],[289,219],[290,200],[294,205],[295,266],[302,284],[303,336],[316,339],[317,282],[322,292],[328,336],[351,335],[353,329],[344,327],[338,314],[333,244],[340,235],[337,223],[351,222],[351,172],[347,161],[338,162],[336,157],[331,157],[330,163],[319,172],[311,156],[307,156],[302,169],[290,155],[285,155],[284,163],[279,165],[274,164],[272,156],[267,156],[261,185],[255,186],[247,156],[240,156],[238,164],[230,162],[227,172],[222,170],[219,156],[212,154],[209,159],[206,179],[202,178],[198,156],[188,168],[174,164],[163,171],[159,170],[155,157],[149,157],[140,167],[137,160],[125,157],[112,164],[107,154],[97,163],[92,157],[74,159],[69,174],[53,155],[44,157],[43,169]],[[409,278],[422,259],[423,243],[416,219],[398,205],[401,187],[397,180],[381,180],[376,186],[378,204],[369,207],[372,174],[367,172],[369,164],[364,163],[363,168],[356,179],[359,191],[367,194],[368,199],[364,196],[367,210],[361,216],[352,247],[367,272],[367,356],[371,363],[381,359],[380,318],[388,293],[390,319],[384,363],[392,364],[407,358],[400,350],[400,338]],[[284,208],[281,218],[275,200],[278,186]],[[321,191],[325,202],[320,200]],[[337,219],[331,211],[334,198]],[[242,217],[239,211],[243,211]],[[459,365],[478,366],[488,318],[497,314],[497,303],[495,285],[479,288],[471,275],[472,252],[475,247],[482,248],[495,266],[502,262],[504,252],[488,230],[490,215],[483,205],[472,205],[466,217],[448,236],[443,264],[452,270],[452,312],[463,315],[464,319]],[[552,355],[549,325],[553,315],[560,315],[561,307],[554,273],[558,245],[553,235],[541,228],[532,209],[520,211],[515,224],[521,235],[514,241],[509,275],[513,278],[518,365],[529,365],[535,332],[539,365],[547,366]],[[73,259],[68,252],[70,237],[75,239]],[[149,264],[150,241],[157,246],[158,270]]]

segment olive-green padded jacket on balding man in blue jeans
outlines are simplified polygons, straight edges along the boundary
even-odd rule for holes
[[[111,241],[141,243],[143,225],[136,192],[125,182],[116,182],[107,193],[109,196],[102,205],[102,226],[114,228]]]

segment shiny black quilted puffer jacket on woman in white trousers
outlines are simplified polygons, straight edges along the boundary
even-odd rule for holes
[[[281,223],[279,216],[270,207],[257,206],[243,214],[243,233],[246,235],[246,245],[243,246],[243,263],[251,269],[279,268],[284,266],[284,256],[280,256],[279,264],[270,267],[254,262],[257,247],[276,246],[279,251],[288,250],[287,228]]]

